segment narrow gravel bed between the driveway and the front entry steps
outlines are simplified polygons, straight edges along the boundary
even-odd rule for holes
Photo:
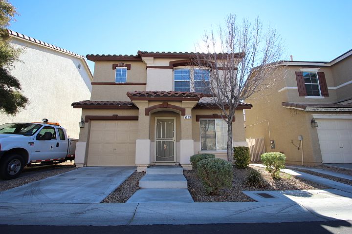
[[[125,203],[138,189],[139,180],[145,172],[133,172],[114,192],[105,197],[102,203]]]

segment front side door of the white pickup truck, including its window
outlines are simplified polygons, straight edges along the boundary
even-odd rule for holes
[[[46,132],[51,133],[50,140],[41,140]],[[58,147],[56,145],[59,143],[57,139],[57,134],[54,127],[44,126],[35,137],[33,154],[30,160],[46,160],[60,158]]]

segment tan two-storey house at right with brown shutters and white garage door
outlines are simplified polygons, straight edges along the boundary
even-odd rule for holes
[[[352,163],[352,50],[330,62],[283,61],[272,77],[277,86],[246,111],[246,137],[264,137],[266,152],[284,152],[287,163]]]

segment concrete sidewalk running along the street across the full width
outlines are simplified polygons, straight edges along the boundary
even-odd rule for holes
[[[289,191],[288,191],[289,192]],[[151,225],[351,220],[352,199],[294,196],[285,202],[0,203],[0,224]]]

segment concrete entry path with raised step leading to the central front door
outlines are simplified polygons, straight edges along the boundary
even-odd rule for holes
[[[139,189],[126,203],[180,203],[194,202],[187,189],[183,168],[178,166],[152,166],[139,180]]]

